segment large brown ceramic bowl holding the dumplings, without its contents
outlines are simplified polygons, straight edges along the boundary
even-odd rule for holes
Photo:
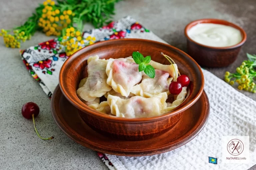
[[[78,84],[87,76],[87,59],[90,56],[97,54],[105,59],[121,58],[130,56],[133,51],[139,51],[144,56],[151,55],[152,60],[162,64],[170,64],[160,55],[161,51],[177,63],[181,74],[186,74],[190,78],[186,100],[180,106],[161,116],[129,119],[102,114],[85,105],[77,97]],[[120,39],[97,42],[75,52],[63,64],[59,74],[59,84],[63,95],[78,108],[81,118],[94,130],[119,139],[144,140],[161,135],[178,123],[183,112],[201,96],[204,77],[200,66],[178,48],[149,40]]]

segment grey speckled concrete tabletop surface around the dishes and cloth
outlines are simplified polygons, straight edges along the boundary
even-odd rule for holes
[[[10,29],[26,21],[42,0],[1,1],[0,27]],[[226,70],[235,71],[246,52],[256,53],[255,0],[123,0],[116,5],[115,20],[130,15],[166,42],[186,51],[184,27],[200,18],[220,18],[243,27],[248,35],[238,59],[227,68],[208,69],[220,78]],[[86,25],[85,29],[92,28]],[[47,41],[42,33],[21,45],[27,48]],[[256,94],[243,92],[256,100]],[[21,116],[24,103],[33,101],[41,113],[36,119],[42,136],[55,136],[52,141],[37,137],[31,120]],[[0,40],[0,169],[99,169],[107,167],[95,151],[76,144],[55,124],[50,100],[28,74],[18,49],[6,48]],[[256,164],[256,162],[255,162]],[[256,166],[250,168],[256,170]]]

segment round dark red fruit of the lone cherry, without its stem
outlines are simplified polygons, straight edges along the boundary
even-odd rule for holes
[[[33,102],[28,102],[25,105],[22,106],[21,113],[22,116],[26,119],[32,119],[32,115],[34,114],[34,117],[37,117],[39,114],[39,107],[37,104]]]

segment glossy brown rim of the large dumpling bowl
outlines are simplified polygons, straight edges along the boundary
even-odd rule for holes
[[[64,70],[66,68],[66,65],[69,63],[70,60],[73,60],[73,58],[76,58],[80,55],[81,51],[82,50],[86,50],[87,48],[92,48],[93,46],[96,46],[96,45],[100,45],[100,44],[104,44],[108,41],[144,41],[144,42],[153,42],[153,43],[158,43],[160,45],[167,45],[171,48],[174,48],[175,50],[179,51],[180,53],[186,55],[189,59],[192,60],[192,62],[194,62],[194,64],[198,67],[199,71],[200,71],[200,75],[202,77],[202,80],[201,80],[201,87],[198,91],[198,93],[196,94],[196,96],[194,97],[194,99],[192,99],[189,103],[187,103],[187,105],[185,106],[182,106],[181,108],[175,110],[175,111],[169,111],[163,115],[159,115],[159,116],[154,116],[154,117],[148,117],[148,118],[123,118],[123,117],[116,117],[116,116],[112,116],[112,115],[107,115],[107,114],[102,114],[101,112],[98,112],[96,110],[92,111],[90,107],[88,107],[87,105],[80,105],[79,104],[79,101],[82,102],[78,97],[77,99],[73,100],[69,95],[68,95],[68,92],[66,90],[66,88],[64,87],[64,85],[62,84],[63,80],[64,80],[64,77],[63,77],[63,73],[64,73]],[[169,45],[169,44],[166,44],[166,43],[162,43],[162,42],[157,42],[157,41],[152,41],[152,40],[145,40],[145,39],[115,39],[115,40],[108,40],[108,41],[102,41],[102,42],[96,42],[92,45],[89,45],[89,46],[86,46],[78,51],[76,51],[75,53],[73,53],[65,62],[64,64],[62,65],[61,69],[60,69],[60,72],[59,72],[59,86],[60,86],[60,89],[63,93],[63,95],[65,96],[65,98],[73,105],[75,106],[77,109],[79,109],[80,111],[86,113],[86,114],[90,114],[92,116],[97,116],[97,118],[101,118],[101,119],[108,119],[108,120],[111,120],[111,121],[114,121],[114,122],[129,122],[129,123],[140,123],[140,122],[153,122],[153,121],[156,121],[156,120],[162,120],[162,119],[165,119],[167,117],[171,117],[171,116],[174,116],[176,114],[179,114],[183,111],[185,111],[186,109],[188,109],[190,106],[192,106],[199,98],[200,96],[202,95],[203,93],[203,90],[204,90],[204,75],[203,75],[203,71],[201,69],[201,67],[198,65],[198,63],[191,57],[189,56],[187,53],[185,53],[184,51],[172,46],[172,45]],[[79,100],[79,101],[78,101]]]

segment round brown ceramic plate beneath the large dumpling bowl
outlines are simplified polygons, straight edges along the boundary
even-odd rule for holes
[[[86,125],[78,109],[64,97],[59,86],[52,95],[51,111],[59,128],[75,142],[99,152],[122,156],[153,155],[176,149],[200,133],[210,113],[209,100],[203,92],[171,130],[152,139],[127,141],[102,135]]]

